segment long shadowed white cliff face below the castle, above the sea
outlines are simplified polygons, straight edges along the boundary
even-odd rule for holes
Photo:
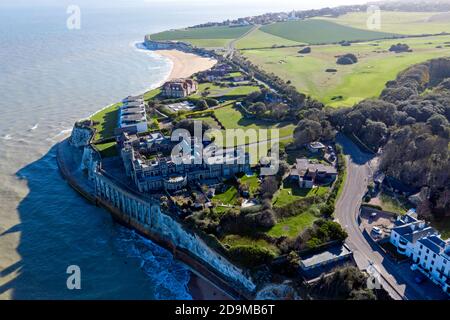
[[[87,170],[89,179],[94,182],[95,193],[98,197],[106,200],[149,231],[167,238],[179,248],[188,250],[219,274],[241,284],[250,292],[255,290],[256,285],[244,275],[241,269],[212,250],[198,235],[186,231],[179,222],[164,214],[159,202],[150,203],[146,199],[132,195],[98,172],[97,164],[101,159],[89,145],[92,134],[93,131],[89,128],[75,126],[70,143],[77,148],[84,147],[80,166],[82,170]]]

